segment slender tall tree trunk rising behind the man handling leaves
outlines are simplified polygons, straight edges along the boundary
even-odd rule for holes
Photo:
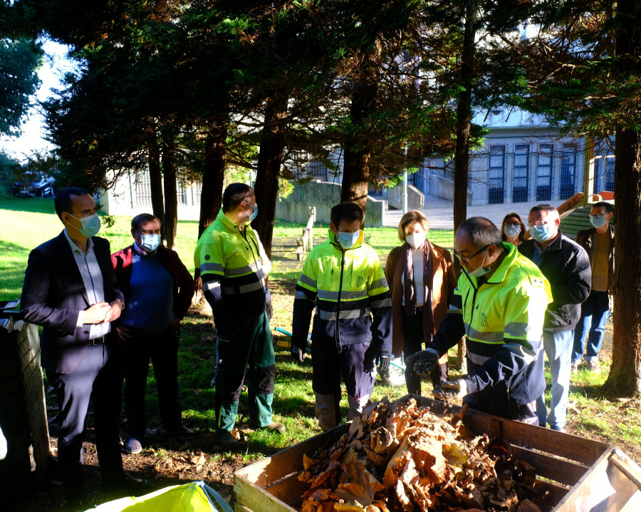
[[[471,89],[474,66],[474,35],[476,29],[476,2],[470,1],[465,8],[465,26],[461,53],[461,85],[457,102],[457,148],[454,158],[454,232],[467,218],[467,171],[469,166],[469,128],[471,123]],[[454,258],[454,270],[461,275],[459,260]],[[465,338],[458,344],[457,369],[467,372]]]

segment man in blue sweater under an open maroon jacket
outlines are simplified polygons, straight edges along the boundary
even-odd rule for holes
[[[151,359],[158,386],[158,405],[165,430],[178,439],[194,433],[181,420],[178,403],[180,321],[194,295],[194,280],[176,252],[160,243],[160,220],[141,213],[131,221],[133,245],[116,252],[111,262],[127,307],[118,323],[125,368],[125,451],[142,451],[145,387]]]

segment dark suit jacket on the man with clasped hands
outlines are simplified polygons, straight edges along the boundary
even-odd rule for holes
[[[92,240],[103,273],[105,302],[124,300],[111,266],[109,242],[100,237]],[[31,251],[24,274],[21,310],[25,322],[43,327],[42,366],[48,371],[70,374],[82,362],[90,326],[75,327],[75,324],[80,309],[89,306],[83,278],[64,232]]]

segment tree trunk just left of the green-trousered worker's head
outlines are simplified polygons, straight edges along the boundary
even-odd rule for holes
[[[200,193],[198,237],[207,229],[222,206],[222,188],[227,161],[227,118],[221,116],[209,123],[205,140],[204,169]]]

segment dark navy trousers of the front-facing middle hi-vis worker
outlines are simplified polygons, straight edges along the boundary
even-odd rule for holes
[[[374,355],[365,355],[370,342],[345,345],[339,350],[336,340],[327,336],[312,336],[312,389],[319,394],[333,394],[336,424],[340,424],[340,379],[348,395],[360,399],[372,394],[376,373]],[[368,359],[368,360],[366,360]],[[366,371],[365,369],[370,369]]]

